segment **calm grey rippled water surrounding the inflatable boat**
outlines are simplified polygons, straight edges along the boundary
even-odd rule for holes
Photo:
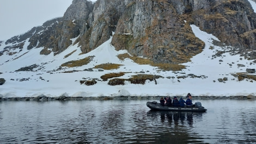
[[[256,143],[256,101],[200,101],[207,112],[147,101],[0,102],[0,143]]]

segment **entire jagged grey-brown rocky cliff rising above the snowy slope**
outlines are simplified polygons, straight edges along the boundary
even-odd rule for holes
[[[246,58],[256,59],[256,15],[247,0],[74,0],[63,17],[12,37],[4,51],[42,47],[40,54],[58,54],[78,37],[76,43],[87,53],[113,36],[118,50],[179,64],[204,48],[190,24],[233,46],[230,51],[251,52]]]

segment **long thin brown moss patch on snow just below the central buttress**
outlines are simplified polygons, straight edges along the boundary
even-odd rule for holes
[[[124,60],[125,58],[132,59],[134,62],[136,62],[139,65],[151,65],[151,66],[156,66],[159,67],[161,70],[165,71],[181,71],[182,69],[185,68],[184,65],[178,65],[178,64],[155,64],[153,61],[150,59],[144,59],[144,58],[139,58],[139,57],[132,57],[129,54],[119,54],[118,58],[120,60]]]

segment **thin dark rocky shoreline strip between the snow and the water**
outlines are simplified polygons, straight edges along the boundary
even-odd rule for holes
[[[0,101],[108,101],[108,100],[156,100],[164,96],[100,96],[100,97],[47,97],[47,96],[38,96],[38,97],[0,97]],[[168,97],[168,96],[166,96]],[[174,96],[171,98],[173,99]],[[183,96],[176,96],[178,99]],[[256,96],[193,96],[192,99],[256,99]]]

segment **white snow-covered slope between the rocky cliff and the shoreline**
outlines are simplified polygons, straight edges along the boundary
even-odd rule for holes
[[[246,68],[255,68],[255,64],[239,55],[230,55],[229,53],[213,58],[212,55],[215,55],[217,51],[224,51],[225,47],[214,46],[212,40],[218,41],[215,36],[202,32],[196,26],[192,25],[191,27],[194,34],[205,42],[205,48],[202,53],[193,57],[191,62],[182,64],[187,67],[180,72],[159,71],[157,67],[138,65],[131,59],[120,60],[117,55],[127,52],[115,51],[111,45],[111,39],[87,54],[81,54],[77,44],[70,46],[64,52],[55,56],[52,53],[39,55],[42,48],[33,48],[29,51],[23,49],[23,51],[17,51],[13,55],[4,53],[0,57],[0,72],[2,72],[0,78],[4,78],[6,82],[0,86],[0,97],[32,97],[38,95],[57,97],[63,94],[82,97],[120,95],[185,96],[188,92],[194,96],[256,96],[255,80],[238,81],[237,78],[231,75],[237,72],[246,72]],[[75,41],[75,39],[72,41]],[[26,41],[25,45],[28,44],[28,41]],[[2,43],[0,51],[3,51],[3,47],[5,45]],[[74,53],[65,58],[71,52]],[[62,70],[58,70],[59,66],[64,62],[89,56],[95,57],[87,65],[72,68],[65,67]],[[93,68],[95,65],[108,62],[123,66],[116,70],[103,71]],[[33,64],[39,65],[33,71],[15,72],[21,67]],[[237,64],[243,64],[245,67],[237,66]],[[93,68],[93,71],[83,71],[88,68]],[[72,70],[76,70],[76,72],[63,73],[64,71]],[[129,78],[141,71],[145,72],[145,74],[160,75],[163,78],[156,79],[157,84],[147,81],[145,85],[126,82],[125,85],[111,86],[107,84],[107,81],[97,81],[92,86],[79,83],[83,79],[101,79],[100,77],[106,73],[130,72],[119,77]],[[187,74],[194,74],[198,78],[192,78]],[[179,76],[184,78],[179,78]],[[218,82],[218,78],[224,77],[228,78],[228,80],[224,83]]]

